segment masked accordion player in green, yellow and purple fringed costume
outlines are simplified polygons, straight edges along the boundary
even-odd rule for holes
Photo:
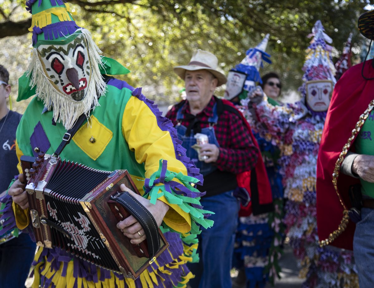
[[[104,171],[127,169],[148,198],[132,194],[161,225],[170,245],[135,280],[59,247],[39,247],[33,263],[33,287],[185,287],[192,277],[186,262],[196,258],[197,248],[193,236],[186,233],[198,234],[200,225],[212,226],[200,206],[203,193],[195,186],[203,182],[199,170],[186,157],[172,123],[141,94],[141,88],[114,78],[104,82],[102,74],[129,71],[99,55],[89,31],[77,26],[67,3],[30,0],[27,10],[33,15],[34,48],[30,67],[19,80],[18,100],[37,96],[16,132],[18,157],[36,156],[38,151],[53,154],[66,130],[85,114],[88,123],[80,126],[61,152],[61,159]],[[22,174],[13,180],[3,201],[4,215],[12,216],[6,218],[1,233],[15,224],[19,229],[30,229],[23,182]],[[144,230],[132,216],[117,227],[132,243],[145,239]]]

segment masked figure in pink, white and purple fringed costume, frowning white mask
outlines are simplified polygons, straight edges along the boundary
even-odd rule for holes
[[[356,287],[357,275],[350,251],[321,248],[316,226],[316,166],[322,129],[336,83],[331,61],[331,39],[321,21],[313,27],[306,50],[302,100],[273,106],[254,104],[257,117],[281,150],[281,175],[285,187],[284,223],[289,245],[301,267],[303,287]],[[252,99],[251,99],[252,100]],[[255,101],[257,102],[257,101]]]

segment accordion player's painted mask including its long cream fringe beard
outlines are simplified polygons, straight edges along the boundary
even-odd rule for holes
[[[106,89],[99,69],[100,49],[88,30],[76,33],[63,45],[52,42],[34,48],[27,71],[30,87],[36,86],[37,97],[53,110],[53,118],[65,129],[73,127],[81,114],[89,117],[91,107],[99,105],[98,97]]]

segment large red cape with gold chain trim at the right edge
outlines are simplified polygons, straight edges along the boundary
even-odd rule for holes
[[[364,75],[374,77],[371,67],[373,60],[366,61]],[[353,233],[355,224],[349,220],[348,225],[342,225],[343,211],[351,207],[348,197],[350,185],[358,183],[358,179],[338,174],[337,190],[332,182],[335,163],[343,151],[343,146],[352,136],[352,129],[362,113],[374,99],[374,80],[365,80],[361,75],[362,65],[350,68],[337,82],[332,94],[331,103],[327,112],[324,131],[317,160],[317,226],[319,240],[328,239],[332,245],[351,249],[353,248]],[[355,137],[358,135],[356,133]],[[354,151],[354,141],[348,148]],[[338,167],[340,170],[340,166]],[[343,203],[340,202],[339,196]],[[344,206],[345,207],[344,207]],[[338,232],[341,224],[343,233]],[[346,226],[346,227],[345,227]],[[337,231],[334,233],[334,231]],[[340,234],[340,235],[339,235]]]

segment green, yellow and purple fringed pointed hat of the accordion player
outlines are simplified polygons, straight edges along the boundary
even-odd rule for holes
[[[42,44],[64,45],[71,42],[80,27],[76,24],[68,3],[63,0],[28,0],[26,10],[33,16],[30,31],[33,32],[33,46]]]

